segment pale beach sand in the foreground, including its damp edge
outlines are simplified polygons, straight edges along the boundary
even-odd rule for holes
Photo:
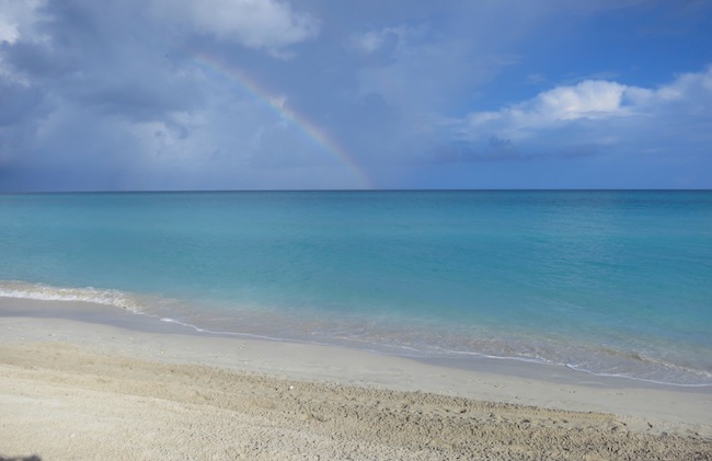
[[[709,460],[712,389],[0,299],[0,460]]]

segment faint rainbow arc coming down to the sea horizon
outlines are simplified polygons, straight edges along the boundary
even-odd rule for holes
[[[354,159],[352,159],[346,149],[340,146],[322,128],[320,128],[305,115],[299,114],[288,107],[287,104],[285,104],[284,97],[275,97],[244,72],[237,68],[228,67],[213,56],[206,55],[204,53],[191,53],[191,56],[198,66],[207,68],[210,71],[227,78],[230,82],[238,85],[242,91],[250,94],[268,110],[277,114],[280,119],[289,122],[307,139],[314,142],[317,146],[328,152],[334,160],[342,164],[357,181],[359,188],[374,188],[374,184],[366,174],[366,171],[356,161],[354,161]]]

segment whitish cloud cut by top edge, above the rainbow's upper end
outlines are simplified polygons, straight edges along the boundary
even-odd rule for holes
[[[277,0],[152,0],[152,5],[158,16],[195,32],[272,53],[319,32],[317,19]]]

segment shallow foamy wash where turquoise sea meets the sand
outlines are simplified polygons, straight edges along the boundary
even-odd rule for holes
[[[3,298],[27,301],[18,314],[30,313],[30,316],[60,316],[129,329],[165,331],[165,325],[158,325],[160,321],[174,324],[184,334],[322,345],[464,369],[472,368],[472,362],[476,369],[481,361],[487,360],[497,362],[502,368],[533,365],[530,372],[535,374],[542,370],[541,367],[566,368],[576,373],[555,373],[559,374],[556,379],[574,383],[595,377],[611,382],[621,379],[620,385],[631,385],[627,382],[632,380],[636,382],[634,385],[643,387],[712,388],[709,358],[704,358],[707,356],[703,354],[707,346],[688,348],[687,354],[680,356],[686,346],[678,347],[674,343],[661,345],[653,341],[651,345],[643,341],[635,347],[629,344],[617,348],[615,344],[607,343],[610,338],[605,332],[594,341],[578,337],[566,339],[566,336],[537,333],[536,327],[532,327],[535,333],[531,334],[497,332],[496,329],[493,332],[468,332],[467,329],[459,331],[455,324],[405,325],[403,321],[395,325],[388,320],[365,321],[348,316],[346,320],[317,319],[269,309],[222,311],[223,306],[214,306],[209,300],[204,304],[204,301],[182,301],[92,287],[62,288],[7,281],[0,288],[0,302],[3,302]],[[59,302],[61,308],[54,308],[55,302]],[[128,319],[131,314],[134,319]],[[656,347],[664,347],[664,350],[655,353]],[[670,350],[669,357],[667,350]],[[546,379],[550,373],[547,371],[541,378]]]

